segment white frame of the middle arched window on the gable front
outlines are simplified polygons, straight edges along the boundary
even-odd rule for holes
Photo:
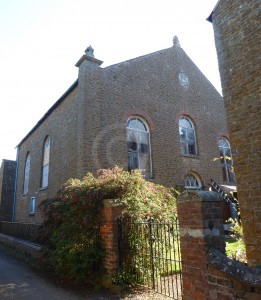
[[[185,126],[182,126],[180,124],[183,119],[186,120],[187,122],[189,122],[190,127],[185,127]],[[189,138],[189,130],[193,130],[194,141]],[[181,137],[182,132],[185,132],[185,137],[184,138]],[[194,126],[192,120],[190,118],[188,118],[187,116],[182,116],[182,117],[179,118],[179,139],[180,139],[181,155],[184,155],[184,156],[190,156],[190,155],[191,156],[196,156],[196,155],[198,155],[197,137],[196,137],[195,126]],[[189,151],[189,143],[193,143],[195,153],[189,153],[190,152]],[[185,151],[184,151],[183,146],[185,146]]]

